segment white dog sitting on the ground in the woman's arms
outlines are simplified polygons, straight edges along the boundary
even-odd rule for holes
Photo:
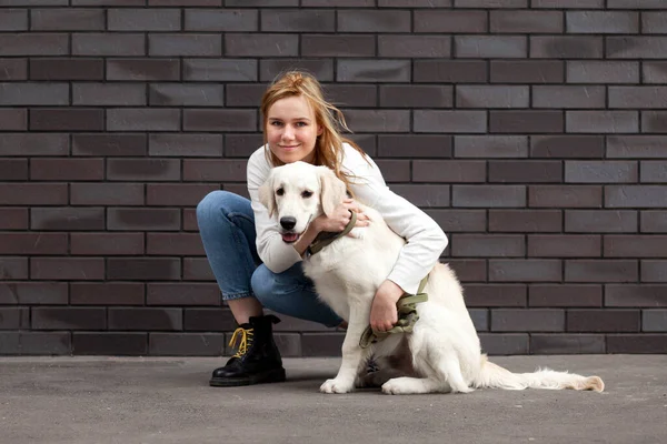
[[[271,216],[296,220],[292,229],[282,230],[287,232],[283,239],[288,239],[306,231],[320,214],[330,214],[345,199],[346,189],[331,170],[296,162],[275,168],[259,196]],[[303,262],[319,297],[348,321],[340,370],[321,385],[321,392],[348,393],[364,385],[381,385],[388,394],[468,393],[477,387],[604,390],[598,376],[550,370],[517,374],[489,362],[480,352],[461,286],[442,263],[429,273],[425,290],[428,301],[417,305],[419,320],[414,331],[390,334],[362,349],[359,340],[369,323],[372,299],[405,240],[377,211],[361,206],[370,219],[369,226],[352,230],[352,235],[336,240]],[[365,375],[371,355],[380,371]]]

